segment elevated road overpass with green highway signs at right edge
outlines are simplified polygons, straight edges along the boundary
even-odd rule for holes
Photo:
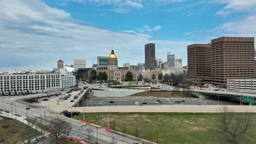
[[[211,95],[216,97],[232,97],[240,100],[240,104],[249,103],[255,105],[256,94],[251,93],[234,93],[234,92],[222,92],[222,91],[207,91],[207,90],[195,90],[202,95]]]

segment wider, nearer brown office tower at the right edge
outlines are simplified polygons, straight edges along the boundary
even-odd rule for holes
[[[212,81],[254,77],[254,38],[212,39]]]

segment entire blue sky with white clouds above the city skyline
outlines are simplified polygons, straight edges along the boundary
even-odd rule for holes
[[[256,36],[256,0],[0,0],[0,71],[51,70],[62,59],[86,68],[112,47],[123,63],[144,63],[144,45],[187,65],[187,46]]]

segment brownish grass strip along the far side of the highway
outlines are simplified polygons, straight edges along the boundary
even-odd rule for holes
[[[159,98],[193,98],[188,92],[140,92],[130,95],[131,97],[159,97]]]

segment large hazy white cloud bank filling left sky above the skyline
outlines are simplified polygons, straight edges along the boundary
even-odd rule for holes
[[[14,68],[52,69],[62,59],[72,64],[74,58],[84,57],[91,66],[92,59],[107,56],[114,46],[119,64],[144,61],[144,44],[156,43],[156,52],[170,47],[183,52],[193,41],[149,40],[149,34],[134,31],[112,31],[75,21],[66,11],[51,8],[42,1],[2,0],[0,9],[1,70]],[[144,27],[158,31],[161,26]],[[182,50],[182,49],[183,50]],[[132,57],[131,57],[132,56]],[[158,54],[166,57],[166,53]],[[184,61],[185,62],[185,61]]]

